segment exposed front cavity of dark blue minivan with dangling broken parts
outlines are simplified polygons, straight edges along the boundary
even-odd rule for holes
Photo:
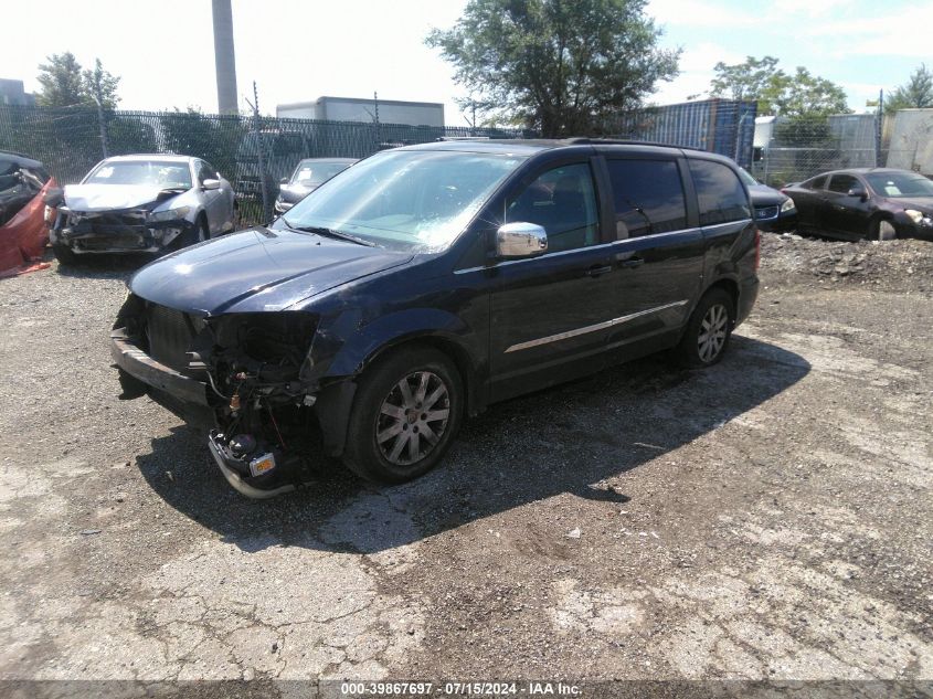
[[[192,384],[203,413],[192,419],[172,396],[120,372],[124,395],[149,393],[189,422],[213,425],[209,448],[226,479],[254,498],[291,490],[309,477],[309,437],[318,430],[318,384],[309,378],[316,317],[301,311],[198,317],[130,295],[112,337]],[[194,385],[198,385],[194,384]]]

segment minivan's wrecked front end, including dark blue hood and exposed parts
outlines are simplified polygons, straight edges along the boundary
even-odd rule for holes
[[[361,361],[344,350],[364,318],[340,289],[411,260],[257,226],[151,263],[110,332],[120,398],[149,395],[210,430],[209,449],[242,494],[291,490],[309,480],[321,436],[327,454],[342,448]],[[368,313],[381,310],[374,301]]]

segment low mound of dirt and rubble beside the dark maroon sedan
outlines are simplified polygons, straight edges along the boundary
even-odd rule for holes
[[[764,233],[762,269],[795,276],[805,284],[871,284],[933,292],[933,242],[904,239],[845,243],[795,233]]]

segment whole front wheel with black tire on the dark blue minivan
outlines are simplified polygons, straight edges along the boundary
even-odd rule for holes
[[[377,360],[353,400],[344,465],[362,478],[390,484],[434,468],[459,430],[463,385],[454,362],[430,347],[406,347]]]

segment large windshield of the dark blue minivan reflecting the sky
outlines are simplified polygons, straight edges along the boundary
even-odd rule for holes
[[[274,227],[331,229],[394,250],[437,252],[454,242],[522,160],[459,151],[385,151],[314,190]]]

